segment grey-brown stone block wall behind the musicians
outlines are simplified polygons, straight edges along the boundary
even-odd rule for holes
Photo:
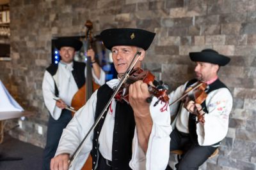
[[[234,96],[228,135],[220,154],[201,169],[256,169],[255,0],[10,3],[12,60],[0,61],[0,79],[26,110],[35,112],[22,122],[22,129],[11,132],[12,136],[44,147],[48,115],[41,86],[45,67],[51,63],[51,38],[81,35],[84,22],[90,19],[95,34],[109,27],[156,32],[144,67],[167,82],[170,90],[193,77],[189,52],[213,48],[230,56],[230,64],[220,69],[220,79]],[[43,135],[38,134],[38,125],[43,127]]]

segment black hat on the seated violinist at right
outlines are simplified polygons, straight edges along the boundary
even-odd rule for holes
[[[219,66],[225,66],[230,61],[229,57],[221,55],[212,49],[205,49],[201,52],[191,52],[189,53],[189,57],[193,61],[209,62],[212,64],[218,64]]]

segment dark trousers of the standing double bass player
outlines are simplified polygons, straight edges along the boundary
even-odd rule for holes
[[[72,119],[72,114],[68,110],[62,110],[61,116],[58,120],[49,117],[47,126],[47,139],[44,149],[43,168],[44,170],[50,169],[51,159],[54,157],[63,129],[67,126],[68,122]]]

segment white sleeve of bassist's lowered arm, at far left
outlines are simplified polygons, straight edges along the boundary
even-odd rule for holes
[[[43,91],[43,97],[44,97],[44,103],[49,110],[52,118],[54,120],[58,120],[61,115],[61,108],[58,108],[56,106],[56,101],[53,99],[55,96],[55,87],[54,87],[54,80],[51,76],[51,74],[48,71],[45,71],[44,73],[44,79],[42,83],[42,91]]]

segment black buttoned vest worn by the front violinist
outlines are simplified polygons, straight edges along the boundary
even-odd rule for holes
[[[95,120],[99,117],[112,94],[113,90],[106,84],[99,88],[97,92]],[[98,139],[106,113],[104,113],[104,118],[100,119],[99,124],[94,129],[92,149],[93,169],[95,169],[99,157]],[[129,161],[132,157],[134,129],[135,120],[131,106],[127,103],[117,102],[112,143],[112,169],[131,169],[129,167]]]

